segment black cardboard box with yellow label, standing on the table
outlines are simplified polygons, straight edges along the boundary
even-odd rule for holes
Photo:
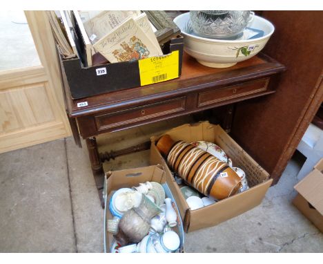
[[[170,77],[170,75],[176,75],[179,77],[182,74],[182,57],[184,48],[184,38],[182,36],[170,39],[170,41],[163,45],[162,51],[164,56],[148,58],[154,61],[159,61],[158,64],[155,65],[156,72],[153,68],[150,70],[147,70],[146,68],[144,68],[144,70],[140,69],[139,60],[132,62],[100,64],[88,67],[86,60],[83,59],[82,61],[82,58],[88,57],[90,53],[87,48],[88,45],[84,42],[84,39],[87,39],[88,37],[84,37],[84,34],[86,33],[84,33],[84,30],[80,29],[77,19],[75,18],[75,13],[77,14],[77,12],[71,12],[71,20],[74,26],[72,35],[75,36],[74,41],[79,57],[63,59],[62,56],[59,56],[61,62],[61,74],[67,81],[64,85],[68,86],[72,99],[79,99],[92,95],[100,95],[112,91],[142,86],[144,85],[141,84],[143,82],[142,79],[147,79],[147,75],[145,73],[148,71],[152,73],[152,76],[149,75],[152,80],[152,84],[176,78]],[[178,73],[176,74],[173,72],[171,74],[164,73],[164,70],[161,70],[161,60],[165,61],[165,59],[169,59],[168,55],[177,58]],[[93,58],[95,58],[95,55]],[[141,61],[144,61],[144,59]],[[164,64],[167,66],[166,62]],[[146,82],[147,81],[145,80],[145,83]]]

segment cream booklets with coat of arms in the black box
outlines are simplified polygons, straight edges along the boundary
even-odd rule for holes
[[[128,62],[163,55],[154,27],[140,11],[78,11],[92,53],[108,62]]]

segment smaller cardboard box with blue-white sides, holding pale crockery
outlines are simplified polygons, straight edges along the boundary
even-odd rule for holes
[[[179,209],[175,202],[175,198],[168,187],[166,182],[166,173],[161,165],[153,165],[149,167],[141,167],[136,169],[124,169],[121,171],[110,171],[106,173],[104,180],[104,252],[110,252],[112,246],[113,236],[107,232],[107,220],[112,219],[112,215],[109,210],[110,198],[114,191],[120,188],[131,188],[138,186],[141,182],[159,182],[165,190],[166,197],[173,200],[173,207],[177,212],[177,226],[173,227],[173,231],[179,235],[181,244],[179,246],[179,252],[184,252],[184,229],[182,224],[182,218],[179,214]]]

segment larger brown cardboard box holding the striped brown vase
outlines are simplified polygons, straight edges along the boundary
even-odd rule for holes
[[[213,205],[208,205],[197,210],[190,210],[184,196],[182,196],[179,186],[176,184],[168,169],[166,161],[162,158],[155,146],[155,142],[161,135],[152,137],[150,164],[163,165],[166,171],[168,185],[175,196],[179,213],[182,219],[184,219],[185,232],[192,232],[197,229],[217,225],[252,209],[262,202],[273,180],[269,179],[269,174],[246,151],[239,147],[221,126],[213,125],[209,122],[199,122],[197,124],[184,124],[166,133],[175,141],[184,140],[186,142],[193,142],[196,140],[205,140],[214,142],[233,160],[235,167],[239,167],[245,171],[250,187],[250,189],[242,193],[220,200]]]

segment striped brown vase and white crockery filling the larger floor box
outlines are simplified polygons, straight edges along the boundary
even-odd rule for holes
[[[170,169],[190,186],[181,191],[192,210],[248,189],[244,171],[233,167],[232,160],[212,142],[174,142],[164,135],[157,142],[157,149]]]

